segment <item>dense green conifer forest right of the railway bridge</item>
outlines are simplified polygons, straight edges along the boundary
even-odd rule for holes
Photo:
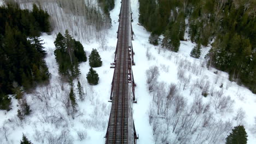
[[[139,0],[139,22],[151,32],[150,43],[164,35],[161,45],[174,52],[187,29],[197,46],[212,45],[209,67],[256,93],[255,8],[253,0]]]

